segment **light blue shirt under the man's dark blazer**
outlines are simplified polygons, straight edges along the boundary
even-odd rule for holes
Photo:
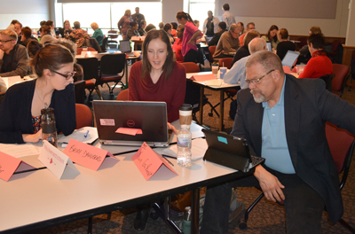
[[[265,166],[284,174],[295,174],[285,131],[284,93],[286,79],[285,76],[279,102],[272,108],[267,102],[263,102],[261,156],[265,159]]]

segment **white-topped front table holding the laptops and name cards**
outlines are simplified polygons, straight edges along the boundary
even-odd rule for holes
[[[36,144],[36,147],[40,145]],[[47,168],[12,175],[9,182],[0,180],[0,232],[43,230],[193,191],[192,233],[198,233],[200,188],[247,175],[202,159],[193,161],[189,168],[179,167],[176,160],[170,159],[178,175],[163,167],[146,181],[131,160],[135,152],[122,151],[120,146],[107,147],[112,147],[110,152],[121,154],[116,156],[118,160],[106,158],[98,171],[75,164],[81,174],[65,174],[60,180]],[[164,149],[154,150],[162,153]],[[20,159],[36,162],[34,166],[38,167],[37,158]]]

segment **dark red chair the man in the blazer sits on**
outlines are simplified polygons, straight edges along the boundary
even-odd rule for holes
[[[351,158],[355,148],[355,136],[351,135],[345,129],[338,129],[334,124],[330,122],[326,123],[326,136],[330,152],[332,153],[332,157],[335,162],[336,170],[338,174],[343,173],[339,186],[339,189],[342,190],[348,177],[349,169],[351,167]],[[241,219],[239,222],[239,228],[241,230],[244,230],[248,227],[248,214],[263,197],[264,192],[261,192],[257,199],[245,211],[244,219]],[[355,230],[349,223],[345,222],[343,219],[341,219],[339,222],[345,228],[351,230],[351,233],[355,233]]]

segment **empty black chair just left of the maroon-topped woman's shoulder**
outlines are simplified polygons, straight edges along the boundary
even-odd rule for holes
[[[106,83],[111,96],[114,96],[114,88],[118,83],[121,83],[122,88],[124,87],[122,77],[124,76],[125,67],[125,54],[106,54],[101,58],[99,84],[102,86],[102,84]],[[112,89],[108,82],[114,82]]]

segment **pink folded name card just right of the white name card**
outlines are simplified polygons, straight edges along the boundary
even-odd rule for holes
[[[63,152],[75,163],[91,170],[98,170],[106,155],[116,159],[110,152],[75,139],[70,139]]]

